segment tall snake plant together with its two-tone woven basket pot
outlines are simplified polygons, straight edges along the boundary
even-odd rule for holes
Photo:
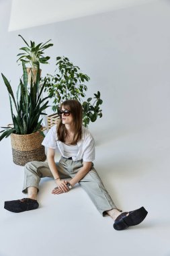
[[[37,63],[36,82],[31,79],[30,90],[28,90],[28,73],[24,61],[22,61],[22,67],[24,75],[20,79],[16,97],[7,78],[3,73],[1,74],[9,92],[13,125],[12,127],[11,125],[1,127],[3,131],[0,132],[2,133],[0,141],[4,137],[11,136],[13,162],[23,166],[32,160],[44,161],[46,159],[44,146],[41,145],[44,133],[41,130],[42,119],[40,119],[40,115],[46,115],[43,111],[48,107],[48,97],[41,98],[46,86],[46,79],[40,90],[39,64]]]

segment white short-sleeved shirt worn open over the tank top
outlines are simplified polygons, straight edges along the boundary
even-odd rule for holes
[[[59,141],[56,133],[56,125],[52,126],[46,137],[42,141],[42,145],[47,148],[52,148],[60,151],[60,154],[65,157],[63,142]],[[82,160],[84,162],[93,162],[95,160],[95,141],[89,130],[82,127],[82,137],[77,142],[79,148],[77,156],[73,156],[73,161]]]

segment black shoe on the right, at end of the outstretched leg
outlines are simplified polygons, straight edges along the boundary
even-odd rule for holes
[[[128,214],[128,216],[126,216]],[[124,230],[129,226],[135,226],[140,224],[148,212],[144,209],[144,207],[140,207],[137,210],[131,212],[123,212],[116,218],[114,222],[114,229],[116,230]]]

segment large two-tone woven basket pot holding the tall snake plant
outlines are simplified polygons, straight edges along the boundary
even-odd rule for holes
[[[41,145],[44,137],[39,131],[19,135],[11,133],[13,162],[24,166],[31,161],[46,160],[45,148]]]

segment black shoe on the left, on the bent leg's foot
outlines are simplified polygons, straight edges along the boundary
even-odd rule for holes
[[[23,198],[13,201],[5,201],[4,208],[9,212],[25,212],[35,210],[39,206],[38,201],[30,198]]]

